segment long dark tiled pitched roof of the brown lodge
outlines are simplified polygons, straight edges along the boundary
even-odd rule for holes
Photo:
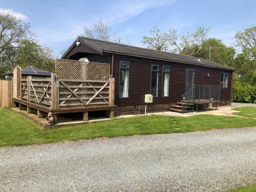
[[[191,65],[205,66],[205,67],[211,67],[211,68],[233,70],[226,66],[220,65],[219,63],[209,61],[203,58],[200,58],[200,61],[198,61],[197,57],[163,52],[163,51],[156,51],[156,50],[118,44],[116,42],[93,39],[88,37],[78,37],[78,40],[82,44],[89,46],[94,50],[97,50],[98,53],[101,53],[101,54],[103,52],[117,53],[117,54],[129,55],[129,56],[135,56],[135,57],[143,57],[143,58],[156,59],[156,60],[187,63]],[[75,45],[75,42],[72,44],[72,46],[67,50],[67,52],[61,58],[64,58],[73,49],[73,45]]]

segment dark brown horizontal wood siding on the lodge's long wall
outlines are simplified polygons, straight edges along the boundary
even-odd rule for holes
[[[119,98],[119,62],[130,61],[129,98]],[[117,106],[144,105],[144,95],[150,94],[151,65],[159,65],[158,97],[153,98],[153,105],[175,103],[185,93],[186,69],[195,69],[195,84],[220,85],[221,72],[228,73],[228,88],[221,89],[221,100],[230,101],[232,73],[229,70],[183,65],[175,62],[162,62],[138,57],[115,54],[115,104]],[[162,69],[170,66],[169,97],[162,97]],[[207,73],[210,77],[207,77]]]

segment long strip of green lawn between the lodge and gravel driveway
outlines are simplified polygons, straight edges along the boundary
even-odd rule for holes
[[[146,115],[76,126],[43,128],[9,109],[0,110],[0,146],[49,143],[97,137],[131,136],[207,131],[228,127],[256,126],[255,119],[214,115],[172,117]]]

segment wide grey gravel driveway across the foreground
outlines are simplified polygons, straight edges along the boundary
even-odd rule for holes
[[[256,183],[256,127],[0,148],[0,191],[222,191]]]

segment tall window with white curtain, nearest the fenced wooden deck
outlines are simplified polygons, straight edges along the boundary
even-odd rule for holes
[[[120,61],[119,98],[128,98],[130,62]]]

